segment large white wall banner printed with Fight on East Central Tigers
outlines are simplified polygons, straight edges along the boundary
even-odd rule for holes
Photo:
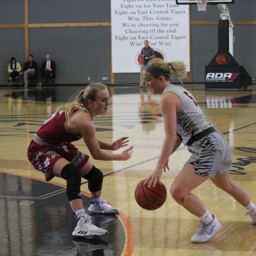
[[[189,6],[176,0],[111,0],[112,72],[140,72],[148,40],[157,58],[189,70]]]

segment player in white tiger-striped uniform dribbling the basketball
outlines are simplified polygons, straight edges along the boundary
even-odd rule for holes
[[[148,62],[143,71],[146,84],[155,94],[162,94],[160,110],[164,121],[165,138],[157,166],[148,178],[149,186],[160,183],[163,170],[168,168],[168,158],[180,146],[188,146],[191,157],[185,163],[170,188],[176,202],[200,220],[192,242],[204,243],[221,229],[219,221],[211,215],[191,190],[208,178],[243,205],[256,224],[256,208],[245,190],[229,176],[231,152],[225,137],[214,129],[204,116],[193,95],[181,86],[170,84],[175,74],[180,80],[186,78],[185,65],[181,61],[166,63],[162,59]]]

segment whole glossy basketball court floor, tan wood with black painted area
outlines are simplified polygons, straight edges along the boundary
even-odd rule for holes
[[[231,177],[256,203],[256,90],[205,91],[186,86],[232,151]],[[93,223],[108,229],[102,238],[73,239],[73,212],[66,199],[65,180],[44,176],[27,160],[27,147],[41,123],[81,87],[0,88],[0,255],[256,255],[256,225],[231,196],[206,181],[193,193],[222,224],[218,237],[193,244],[198,220],[167,195],[154,211],[140,208],[134,190],[154,169],[164,128],[159,95],[146,88],[109,87],[108,114],[95,119],[97,136],[112,142],[130,137],[128,161],[91,158],[104,174],[103,198],[119,207],[119,216],[95,215]],[[83,141],[74,143],[89,154]],[[90,154],[89,154],[90,155]],[[189,158],[180,146],[170,157],[170,172],[162,182],[167,191]],[[84,207],[90,204],[86,180],[81,186]]]

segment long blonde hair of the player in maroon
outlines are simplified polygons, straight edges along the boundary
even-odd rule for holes
[[[84,111],[84,106],[88,106],[88,101],[95,101],[97,92],[104,89],[106,86],[100,82],[90,83],[88,87],[74,94],[68,103],[60,105],[55,112],[62,110],[65,112],[66,119],[70,121],[74,109]]]

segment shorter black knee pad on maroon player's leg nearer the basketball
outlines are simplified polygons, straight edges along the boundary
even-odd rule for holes
[[[88,180],[88,188],[92,192],[97,192],[102,188],[103,174],[100,169],[96,168],[94,165],[90,172],[82,176],[84,179]]]

